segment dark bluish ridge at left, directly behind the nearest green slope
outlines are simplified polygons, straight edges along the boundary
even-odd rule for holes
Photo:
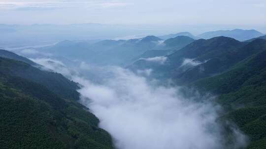
[[[62,98],[79,99],[79,93],[76,91],[79,88],[77,84],[61,74],[41,71],[29,64],[20,61],[11,62],[3,58],[0,59],[0,72],[39,83]]]

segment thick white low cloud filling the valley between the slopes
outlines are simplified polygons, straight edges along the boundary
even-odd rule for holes
[[[82,64],[83,71],[93,71],[87,67]],[[120,67],[98,70],[109,74],[100,83],[77,75],[72,79],[83,86],[78,90],[80,102],[100,119],[100,127],[111,134],[117,149],[225,148],[216,121],[220,108],[211,98],[203,102],[195,101],[198,96],[184,98],[180,87],[159,86]],[[245,145],[245,136],[234,131],[233,149],[238,149]]]

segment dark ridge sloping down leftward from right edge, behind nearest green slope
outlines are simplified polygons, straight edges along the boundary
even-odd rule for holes
[[[217,55],[212,55],[208,61],[188,69],[175,78],[180,82],[192,82],[200,78],[220,74],[230,69],[234,64],[247,58],[250,55],[266,50],[266,40],[256,39],[244,47],[236,48],[231,51],[224,51]],[[196,61],[199,59],[195,59]]]

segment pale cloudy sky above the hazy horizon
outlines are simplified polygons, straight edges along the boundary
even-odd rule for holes
[[[266,0],[0,0],[0,23],[266,25]]]

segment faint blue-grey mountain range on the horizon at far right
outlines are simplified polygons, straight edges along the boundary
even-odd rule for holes
[[[217,30],[217,31],[209,31],[202,33],[198,35],[200,38],[203,39],[209,39],[217,36],[226,36],[226,37],[231,37],[239,41],[245,41],[249,40],[252,38],[256,38],[259,36],[263,36],[264,34],[251,29],[251,30],[243,30],[243,29],[233,29],[233,30]]]

